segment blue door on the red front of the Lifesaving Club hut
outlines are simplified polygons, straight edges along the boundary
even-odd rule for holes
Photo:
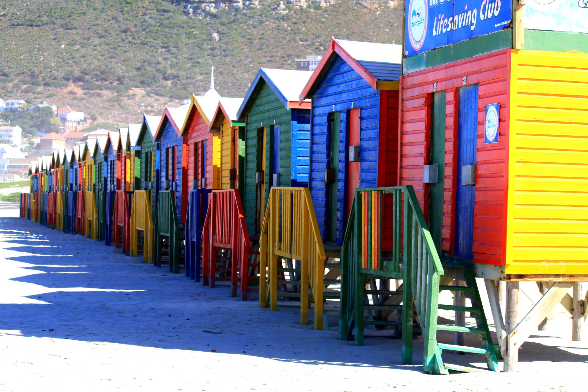
[[[457,119],[457,192],[455,200],[455,257],[472,260],[474,205],[476,199],[476,143],[478,85],[459,89]],[[467,185],[464,185],[467,184]]]

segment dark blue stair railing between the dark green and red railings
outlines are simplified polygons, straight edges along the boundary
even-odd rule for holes
[[[188,212],[186,213],[186,276],[200,282],[202,228],[208,209],[211,189],[193,189],[188,194]]]

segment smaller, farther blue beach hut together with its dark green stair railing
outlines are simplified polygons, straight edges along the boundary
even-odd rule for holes
[[[179,244],[183,242],[183,227],[188,206],[186,170],[188,159],[186,136],[180,136],[188,107],[165,108],[155,131],[155,142],[160,143],[158,193],[155,219],[155,265],[161,266],[163,242],[168,241],[170,272],[179,273]]]

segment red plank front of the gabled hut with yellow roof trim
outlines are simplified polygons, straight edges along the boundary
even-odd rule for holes
[[[198,188],[202,187],[202,141],[206,140],[206,189],[212,189],[212,133],[208,130],[208,123],[202,117],[198,109],[193,108],[189,113],[188,122],[186,122],[186,131],[188,140],[188,186],[192,189],[192,181],[198,180]],[[194,143],[198,143],[198,162],[194,156]],[[199,167],[195,167],[198,163]],[[196,170],[195,170],[196,169]],[[194,178],[194,173],[198,173],[198,178]]]

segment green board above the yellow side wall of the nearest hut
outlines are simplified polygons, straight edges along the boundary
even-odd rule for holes
[[[532,51],[588,53],[588,33],[525,29],[524,48]]]

